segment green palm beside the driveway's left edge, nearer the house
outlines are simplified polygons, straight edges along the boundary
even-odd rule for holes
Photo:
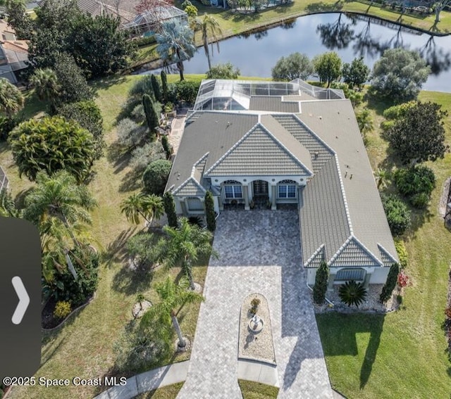
[[[212,234],[208,230],[201,229],[196,224],[190,224],[186,217],[180,218],[180,227],[163,227],[168,235],[166,248],[163,248],[163,260],[168,267],[181,265],[188,281],[190,289],[194,290],[192,279],[192,264],[199,259],[199,255],[211,255],[214,258],[218,254],[211,246]]]

